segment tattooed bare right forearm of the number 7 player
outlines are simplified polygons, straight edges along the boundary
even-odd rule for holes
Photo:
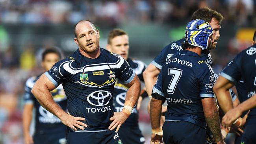
[[[203,98],[202,106],[204,109],[205,120],[213,133],[215,141],[217,144],[224,144],[221,135],[219,112],[217,110],[214,98]]]

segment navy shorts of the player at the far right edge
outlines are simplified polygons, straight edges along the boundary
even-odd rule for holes
[[[246,125],[242,136],[241,144],[256,144],[256,124]]]

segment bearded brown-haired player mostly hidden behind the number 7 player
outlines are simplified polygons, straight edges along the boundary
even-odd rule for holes
[[[217,11],[214,11],[208,7],[202,7],[195,11],[191,17],[191,20],[195,19],[201,19],[205,20],[206,22],[210,23],[210,26],[213,29],[213,44],[211,46],[211,49],[215,49],[217,45],[217,41],[220,37],[220,28],[221,28],[221,22],[223,20],[223,16],[218,13]],[[176,52],[179,52],[182,50],[182,43],[185,41],[185,39],[180,39],[178,41],[171,42],[163,50],[161,51],[158,56],[155,57],[155,59],[147,66],[146,70],[143,72],[143,78],[145,79],[145,86],[146,90],[148,92],[148,95],[151,95],[153,86],[155,84],[155,81],[157,79],[157,76],[160,73],[161,66]],[[211,54],[210,52],[203,52],[201,54],[202,59],[208,63],[210,66],[212,66],[212,60],[211,60]],[[212,87],[212,86],[211,86]],[[237,100],[237,99],[234,99]],[[150,111],[150,101],[148,102],[148,112]],[[166,111],[166,107],[163,107],[163,112]],[[161,122],[164,121],[161,117]],[[210,130],[207,131],[207,143],[211,144],[213,143],[213,140],[211,138],[211,133],[209,133]]]

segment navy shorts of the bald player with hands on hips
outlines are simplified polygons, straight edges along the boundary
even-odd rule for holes
[[[67,144],[122,144],[115,130],[102,132],[75,132],[67,128]]]

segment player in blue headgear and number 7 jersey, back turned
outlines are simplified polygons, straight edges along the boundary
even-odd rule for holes
[[[219,113],[212,87],[213,70],[200,57],[215,42],[213,30],[204,20],[192,20],[186,27],[182,51],[163,64],[150,103],[151,142],[165,144],[205,144],[206,122],[217,144],[223,144]],[[160,128],[161,103],[167,113]]]

